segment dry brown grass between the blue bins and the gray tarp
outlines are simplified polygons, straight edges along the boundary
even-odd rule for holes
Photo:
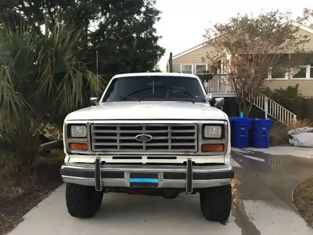
[[[289,141],[287,140],[288,131],[301,127],[313,127],[313,122],[308,119],[296,120],[289,126],[274,122],[269,132],[269,144],[271,146],[289,145]]]

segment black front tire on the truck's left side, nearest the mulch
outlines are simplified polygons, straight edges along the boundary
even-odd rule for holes
[[[91,218],[101,206],[103,192],[94,187],[67,183],[66,201],[67,211],[73,217]]]

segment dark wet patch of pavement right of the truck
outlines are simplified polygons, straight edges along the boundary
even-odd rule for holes
[[[292,151],[294,151],[293,148]],[[300,148],[299,151],[303,151],[303,149]],[[313,150],[310,150],[309,153],[313,154]],[[245,169],[244,173],[241,173],[240,170],[236,171],[241,182],[247,175],[251,178],[256,177],[260,184],[263,184],[292,209],[295,209],[291,196],[293,188],[299,182],[313,175],[313,158],[272,155],[251,149],[233,149],[231,156]],[[243,177],[239,175],[243,175]],[[248,182],[251,183],[251,180],[249,179]],[[247,186],[248,182],[242,183],[242,185]],[[241,191],[248,192],[249,190],[251,190],[251,186]]]

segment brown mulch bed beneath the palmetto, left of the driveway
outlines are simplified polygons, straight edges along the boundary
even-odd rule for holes
[[[9,190],[0,192],[0,235],[15,228],[25,213],[62,184],[60,165],[41,164],[35,177],[14,177],[5,182]]]

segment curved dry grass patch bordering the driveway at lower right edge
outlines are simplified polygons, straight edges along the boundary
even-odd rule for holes
[[[313,228],[313,176],[294,189],[293,202],[301,216]]]

